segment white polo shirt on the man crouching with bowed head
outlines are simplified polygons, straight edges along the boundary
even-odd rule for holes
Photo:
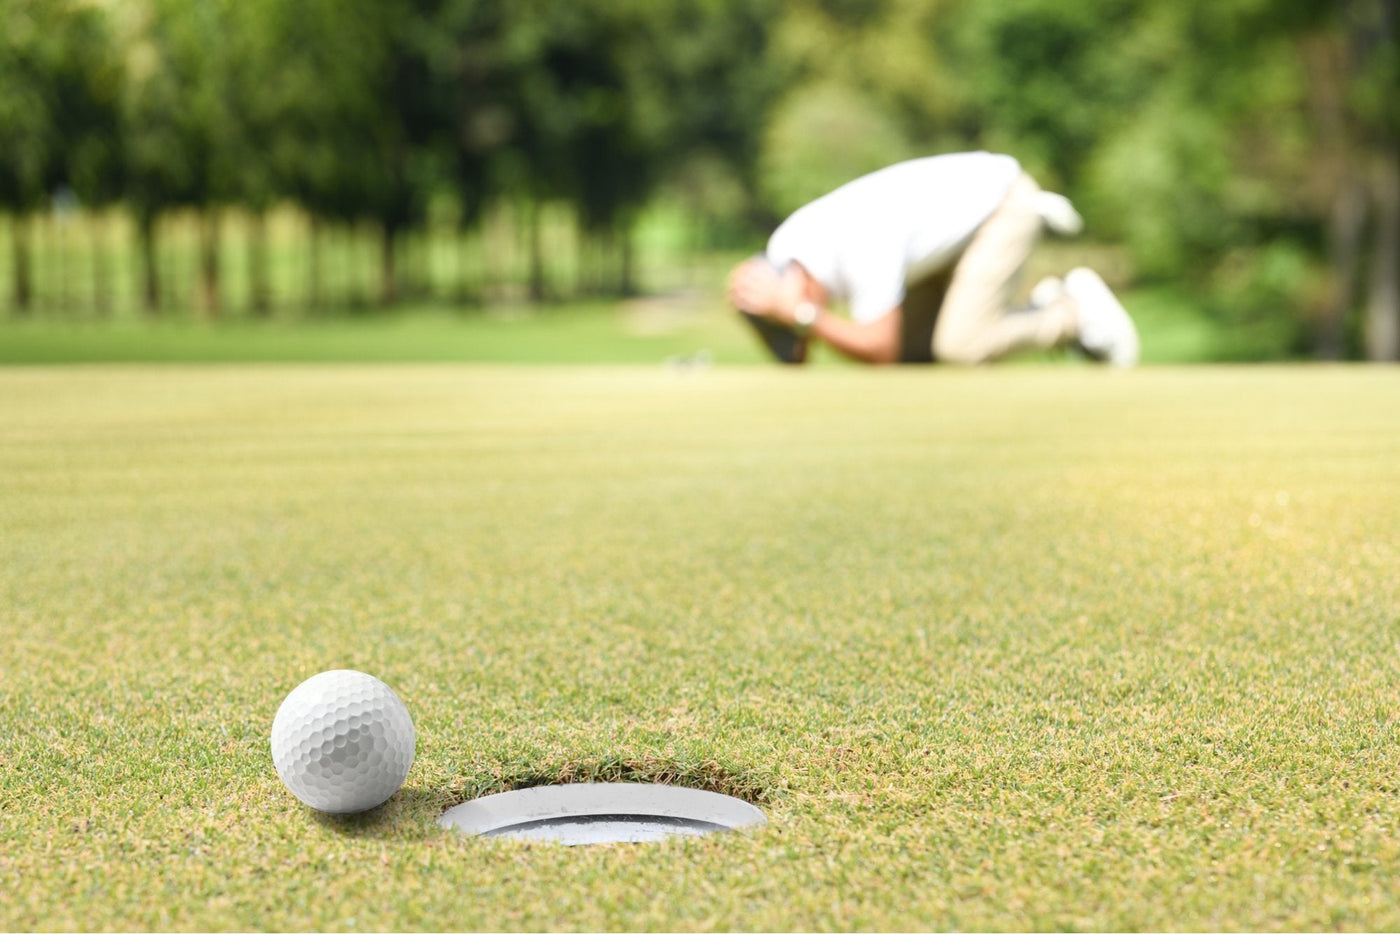
[[[1011,155],[955,153],[896,162],[799,207],[773,231],[767,258],[804,267],[851,318],[875,321],[904,286],[958,260],[1021,176]]]

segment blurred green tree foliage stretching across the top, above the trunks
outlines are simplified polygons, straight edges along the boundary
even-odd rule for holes
[[[1135,274],[1238,297],[1239,258],[1277,242],[1319,266],[1338,192],[1396,158],[1397,20],[1393,0],[10,0],[0,209],[69,186],[150,231],[291,200],[372,220],[389,280],[433,204],[472,227],[563,203],[626,262],[657,197],[710,228],[696,244],[752,242],[854,175],[977,147],[1077,200]],[[1277,314],[1309,319],[1309,295]]]

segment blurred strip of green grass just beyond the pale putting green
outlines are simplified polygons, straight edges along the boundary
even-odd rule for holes
[[[1142,335],[1145,363],[1277,358],[1278,335],[1226,328],[1163,290],[1126,301]],[[337,312],[269,321],[189,315],[115,319],[45,314],[0,318],[0,364],[46,363],[658,363],[707,354],[718,363],[766,361],[766,351],[714,288],[638,298],[454,312],[409,307],[392,314]],[[1064,360],[1067,351],[1022,360]],[[815,357],[836,354],[819,346]]]

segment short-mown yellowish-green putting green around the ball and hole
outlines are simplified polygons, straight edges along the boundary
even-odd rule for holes
[[[0,928],[1400,927],[1396,370],[0,370]],[[434,825],[589,777],[770,823]]]

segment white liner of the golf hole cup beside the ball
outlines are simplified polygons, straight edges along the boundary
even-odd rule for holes
[[[486,837],[566,846],[651,843],[767,823],[748,801],[666,784],[552,784],[490,794],[449,808],[438,825]]]

